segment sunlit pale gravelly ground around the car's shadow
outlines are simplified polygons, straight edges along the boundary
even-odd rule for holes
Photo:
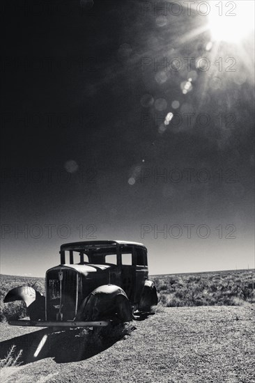
[[[254,307],[160,308],[132,322],[120,341],[95,334],[1,324],[1,359],[12,345],[21,366],[3,368],[1,383],[254,383]],[[38,356],[38,345],[45,345]]]

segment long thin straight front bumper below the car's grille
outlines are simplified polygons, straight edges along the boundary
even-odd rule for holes
[[[109,320],[94,320],[92,322],[75,322],[69,320],[67,322],[50,322],[46,320],[10,320],[11,326],[31,326],[31,327],[106,327]]]

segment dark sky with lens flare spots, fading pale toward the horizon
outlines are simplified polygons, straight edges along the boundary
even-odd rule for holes
[[[3,1],[1,272],[93,237],[151,274],[254,267],[254,40],[155,3]]]

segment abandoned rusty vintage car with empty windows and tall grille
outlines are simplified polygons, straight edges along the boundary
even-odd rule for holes
[[[157,305],[143,244],[73,242],[61,245],[60,256],[61,264],[46,272],[45,297],[28,286],[8,292],[3,302],[23,300],[30,317],[10,325],[101,327],[136,319]]]

